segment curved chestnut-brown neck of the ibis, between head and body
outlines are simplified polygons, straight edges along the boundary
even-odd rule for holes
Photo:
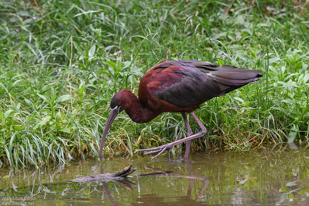
[[[131,92],[130,98],[127,99],[125,112],[131,120],[136,123],[149,122],[157,115],[143,107],[139,99]]]

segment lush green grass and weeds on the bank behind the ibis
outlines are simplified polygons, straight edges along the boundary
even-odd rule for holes
[[[196,114],[209,133],[193,149],[308,142],[308,2],[2,4],[0,166],[62,164],[68,152],[76,159],[98,157],[112,95],[123,88],[137,94],[142,75],[165,59],[264,71],[260,84],[202,104]],[[180,114],[136,124],[122,112],[105,151],[132,155],[185,134]]]

